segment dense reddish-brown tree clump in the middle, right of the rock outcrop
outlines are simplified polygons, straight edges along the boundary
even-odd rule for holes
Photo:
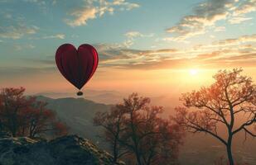
[[[180,126],[160,117],[161,106],[149,104],[149,98],[133,93],[110,112],[99,112],[94,122],[104,126],[116,158],[128,155],[138,165],[175,164],[183,135]]]

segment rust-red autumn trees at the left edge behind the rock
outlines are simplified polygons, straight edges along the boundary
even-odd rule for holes
[[[66,126],[46,108],[46,102],[24,96],[25,88],[2,88],[0,92],[0,128],[12,136],[36,138],[66,134]]]

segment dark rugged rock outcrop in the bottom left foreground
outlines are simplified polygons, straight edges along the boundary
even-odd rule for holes
[[[49,142],[26,137],[0,139],[0,165],[114,165],[112,160],[109,153],[76,135]]]

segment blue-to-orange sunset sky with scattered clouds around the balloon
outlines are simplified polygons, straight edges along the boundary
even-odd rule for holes
[[[55,64],[88,43],[99,68],[84,89],[178,95],[220,69],[256,78],[255,0],[0,0],[0,87],[74,92]]]

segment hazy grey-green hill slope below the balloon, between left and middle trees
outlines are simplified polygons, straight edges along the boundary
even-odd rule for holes
[[[97,111],[109,111],[111,105],[96,103],[84,98],[58,98],[38,96],[37,100],[46,101],[47,107],[56,111],[57,116],[68,125],[70,134],[78,134],[94,143],[102,141],[99,134],[102,128],[93,125],[93,118]]]

